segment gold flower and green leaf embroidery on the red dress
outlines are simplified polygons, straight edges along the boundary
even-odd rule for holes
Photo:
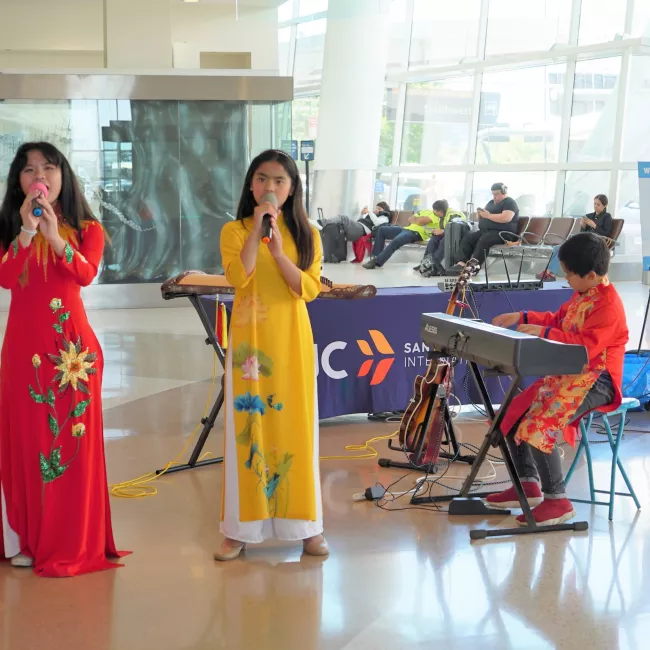
[[[92,397],[85,382],[88,381],[89,375],[97,373],[94,368],[97,354],[89,352],[88,349],[83,350],[81,337],[77,339],[76,343],[73,343],[68,341],[63,334],[62,325],[70,318],[70,312],[63,311],[62,301],[59,298],[54,298],[50,302],[50,309],[56,316],[53,328],[61,336],[59,354],[47,355],[48,360],[57,370],[52,379],[52,384],[58,384],[58,398],[62,398],[68,393],[70,399],[67,406],[64,407],[64,413],[60,413],[57,395],[55,395],[51,386],[47,387],[46,392],[41,382],[40,368],[42,361],[40,355],[35,354],[32,357],[32,366],[36,374],[36,388],[33,388],[30,384],[29,394],[36,404],[48,408],[47,420],[53,436],[49,452],[41,452],[39,456],[43,483],[51,483],[62,476],[79,453],[81,438],[86,434],[86,425],[83,422],[75,422],[71,425],[71,435],[77,440],[77,448],[70,459],[63,461],[61,457],[62,445],[56,446],[56,443],[59,436],[65,431],[66,425],[71,420],[81,418],[86,412]],[[77,401],[76,396],[78,393],[83,393],[87,397]]]

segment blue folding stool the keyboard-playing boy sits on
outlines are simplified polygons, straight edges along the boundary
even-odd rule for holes
[[[611,472],[609,490],[594,489],[594,472],[591,466],[591,449],[589,448],[589,436],[588,436],[589,429],[591,428],[591,422],[594,417],[593,412],[590,413],[586,418],[580,420],[580,434],[581,434],[580,445],[578,446],[578,451],[576,452],[576,456],[573,459],[573,463],[571,463],[571,467],[567,472],[566,479],[565,479],[565,484],[568,485],[569,481],[571,480],[571,476],[573,476],[573,471],[575,470],[576,465],[578,464],[578,460],[580,459],[580,454],[584,451],[587,457],[587,472],[589,473],[589,495],[591,496],[591,499],[589,501],[587,501],[586,499],[571,499],[571,501],[576,501],[578,503],[591,503],[593,505],[598,505],[598,506],[609,506],[610,521],[614,518],[614,495],[618,495],[621,497],[632,497],[634,499],[634,503],[636,504],[637,509],[639,510],[641,509],[641,504],[639,503],[639,500],[637,499],[634,489],[632,488],[630,479],[627,477],[627,474],[625,473],[625,469],[623,468],[623,463],[621,462],[621,459],[618,457],[618,449],[621,444],[621,440],[623,439],[623,430],[625,429],[625,417],[627,415],[627,411],[628,409],[631,408],[638,408],[638,406],[639,406],[638,399],[635,399],[633,397],[624,397],[623,403],[615,411],[611,411],[609,413],[602,413],[603,424],[605,426],[605,431],[607,432],[607,437],[609,438],[609,446],[612,448],[612,472]],[[618,431],[616,432],[616,436],[614,436],[614,434],[612,433],[612,428],[610,427],[609,424],[609,418],[614,417],[616,415],[619,416],[619,423],[618,423]],[[586,425],[585,425],[585,420],[587,421]],[[627,485],[627,489],[629,490],[629,492],[616,492],[616,468],[617,467],[620,470],[621,475],[623,476],[623,480],[625,481],[625,484]],[[609,501],[596,501],[596,492],[599,492],[601,494],[609,494]]]

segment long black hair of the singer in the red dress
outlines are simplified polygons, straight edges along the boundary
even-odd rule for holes
[[[7,192],[0,206],[0,244],[4,250],[20,234],[20,208],[25,202],[25,193],[20,187],[20,174],[27,166],[30,151],[40,151],[47,162],[61,169],[61,194],[58,198],[61,219],[74,228],[80,237],[84,221],[97,221],[68,159],[49,142],[25,142],[16,151],[9,167]]]

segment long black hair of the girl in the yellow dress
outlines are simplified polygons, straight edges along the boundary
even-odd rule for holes
[[[282,214],[298,249],[298,268],[306,271],[314,262],[314,239],[307,212],[305,212],[305,206],[302,202],[302,181],[300,180],[298,167],[291,156],[278,149],[268,149],[255,157],[244,180],[244,187],[237,208],[237,221],[243,221],[252,216],[257,206],[251,191],[251,183],[255,172],[265,162],[280,163],[291,179],[291,189],[293,191],[282,206]]]

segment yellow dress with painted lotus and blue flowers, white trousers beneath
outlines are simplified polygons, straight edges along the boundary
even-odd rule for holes
[[[282,216],[285,254],[298,252]],[[221,231],[221,254],[235,287],[225,381],[221,531],[243,542],[305,539],[322,532],[314,341],[306,302],[320,292],[321,243],[302,271],[301,294],[287,285],[261,244],[246,276],[241,250],[248,220]]]

